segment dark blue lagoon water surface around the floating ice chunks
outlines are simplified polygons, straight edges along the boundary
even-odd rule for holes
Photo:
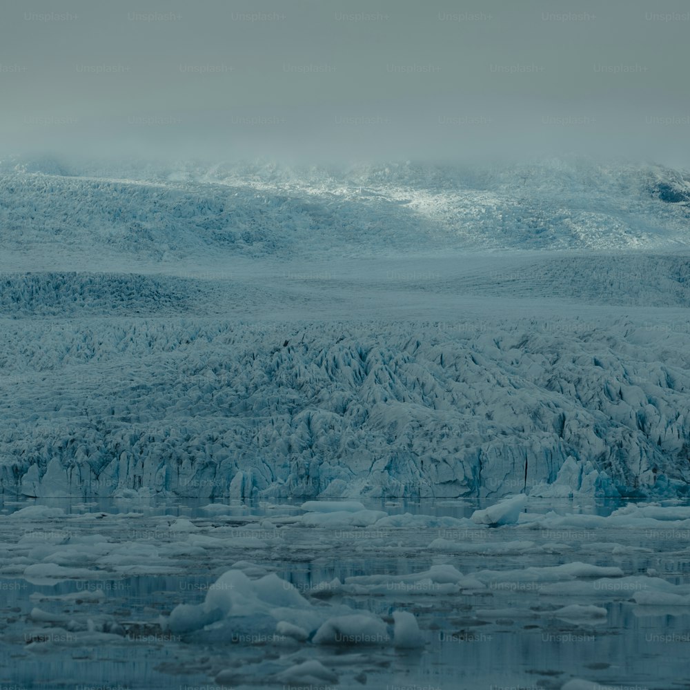
[[[35,502],[32,502],[35,503]],[[690,607],[649,607],[631,601],[630,591],[597,591],[594,599],[584,595],[549,595],[539,588],[488,588],[481,593],[435,593],[391,588],[380,595],[331,593],[319,587],[337,578],[359,575],[406,574],[426,571],[438,563],[451,563],[463,573],[505,571],[582,561],[600,566],[618,566],[625,575],[657,573],[673,584],[688,582],[690,554],[687,543],[660,539],[658,533],[621,529],[566,531],[558,535],[566,548],[521,553],[439,553],[428,544],[439,529],[399,529],[368,538],[355,538],[355,530],[275,527],[280,538],[268,539],[266,547],[230,545],[217,549],[197,548],[186,535],[170,531],[166,518],[193,519],[201,526],[235,529],[246,518],[297,515],[299,503],[279,506],[266,502],[234,504],[222,516],[204,510],[208,501],[166,502],[95,500],[44,500],[68,515],[82,513],[140,513],[136,526],[126,520],[105,518],[70,522],[68,532],[98,533],[109,544],[148,544],[151,553],[159,544],[179,546],[175,573],[155,572],[120,577],[78,580],[67,578],[55,584],[30,582],[21,577],[23,563],[14,559],[21,533],[3,531],[1,553],[12,566],[3,567],[1,586],[0,687],[17,688],[108,687],[138,689],[213,687],[215,674],[235,664],[239,684],[233,687],[275,687],[264,684],[259,669],[266,668],[294,649],[272,644],[213,644],[193,642],[184,635],[165,633],[160,616],[177,604],[199,604],[217,577],[238,561],[252,562],[259,569],[277,573],[298,591],[315,601],[340,602],[355,609],[373,611],[386,620],[394,610],[405,609],[417,617],[426,640],[423,651],[402,653],[392,649],[367,651],[367,671],[340,673],[337,687],[437,687],[486,690],[500,687],[560,688],[577,676],[605,686],[667,687],[687,675],[685,651],[689,641]],[[469,517],[481,501],[406,502],[386,505],[365,501],[369,509],[389,514],[413,513],[438,517]],[[4,514],[26,502],[0,502]],[[535,508],[537,506],[537,508]],[[546,502],[542,510],[558,513],[609,515],[621,502]],[[530,504],[530,510],[539,505]],[[161,519],[165,522],[161,522]],[[229,520],[229,522],[228,522]],[[66,530],[60,520],[42,523],[42,529]],[[203,530],[202,530],[203,531]],[[271,531],[266,527],[267,534]],[[446,538],[452,537],[448,531]],[[491,531],[468,531],[463,543],[494,544],[530,540],[536,546],[553,544],[553,531],[518,527]],[[625,548],[616,552],[614,545]],[[26,562],[41,562],[41,546],[28,552]],[[646,550],[645,550],[646,549]],[[136,559],[135,559],[136,560]],[[537,562],[538,560],[538,562]],[[146,558],[141,560],[146,565]],[[79,564],[75,564],[79,566]],[[11,572],[14,569],[14,572]],[[553,610],[569,604],[604,607],[598,620],[566,620]],[[91,621],[85,629],[79,625]],[[79,623],[70,630],[70,621]],[[113,623],[111,623],[112,621]],[[117,629],[113,626],[117,624]],[[108,628],[108,626],[111,626]],[[112,631],[115,630],[115,633]],[[110,632],[108,632],[110,631]],[[348,658],[359,649],[318,649],[324,665],[348,669]],[[358,658],[358,657],[357,657]],[[338,659],[340,661],[338,661]],[[361,661],[361,660],[360,660]],[[356,663],[359,663],[357,661]],[[254,664],[248,666],[248,664]],[[262,666],[262,664],[264,664]],[[268,664],[268,666],[266,666]],[[341,664],[338,666],[337,664]],[[344,664],[344,665],[342,665]],[[254,669],[254,681],[250,681]],[[243,675],[244,674],[244,675]],[[244,685],[243,685],[244,684]]]

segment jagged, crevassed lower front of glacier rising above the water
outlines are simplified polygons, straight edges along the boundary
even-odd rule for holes
[[[689,479],[688,337],[650,339],[629,321],[497,323],[478,336],[434,324],[12,323],[0,336],[15,372],[2,384],[8,492],[642,495]]]

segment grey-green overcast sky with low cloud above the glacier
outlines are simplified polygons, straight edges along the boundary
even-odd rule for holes
[[[5,0],[0,149],[690,167],[689,46],[683,1]]]

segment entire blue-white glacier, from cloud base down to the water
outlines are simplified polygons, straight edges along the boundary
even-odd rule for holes
[[[685,172],[0,171],[6,493],[687,492]]]

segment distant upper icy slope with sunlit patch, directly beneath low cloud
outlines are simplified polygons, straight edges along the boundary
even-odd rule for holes
[[[35,171],[41,167],[50,173]],[[52,174],[56,168],[63,174]],[[157,174],[144,168],[138,179],[135,170],[69,176],[51,161],[6,160],[0,170],[6,252],[41,246],[72,256],[98,248],[112,257],[179,260],[209,253],[668,250],[690,242],[690,175],[659,166],[177,166]]]

